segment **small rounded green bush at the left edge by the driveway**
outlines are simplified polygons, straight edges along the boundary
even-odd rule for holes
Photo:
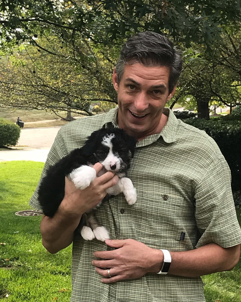
[[[20,127],[10,120],[0,118],[0,146],[15,146],[20,137]]]

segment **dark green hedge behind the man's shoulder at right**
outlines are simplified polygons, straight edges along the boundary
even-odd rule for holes
[[[230,167],[233,192],[241,190],[240,121],[220,117],[211,120],[187,119],[184,122],[204,130],[215,140]]]

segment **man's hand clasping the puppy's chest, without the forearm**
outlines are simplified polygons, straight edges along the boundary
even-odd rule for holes
[[[93,165],[96,174],[102,169],[100,162]],[[88,210],[97,206],[107,194],[106,190],[114,186],[118,176],[108,171],[96,177],[84,190],[77,189],[72,181],[65,177],[65,197],[59,206],[59,211],[72,217],[79,217]]]

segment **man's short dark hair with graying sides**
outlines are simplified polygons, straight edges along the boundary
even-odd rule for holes
[[[116,64],[117,84],[121,82],[125,64],[142,63],[145,66],[167,66],[170,68],[169,93],[176,86],[181,70],[182,59],[173,43],[164,35],[152,31],[140,32],[124,43]]]

